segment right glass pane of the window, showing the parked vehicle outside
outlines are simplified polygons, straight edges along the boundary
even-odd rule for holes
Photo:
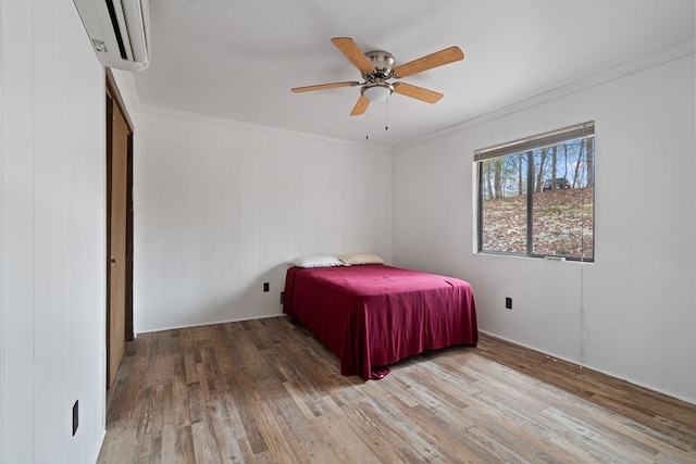
[[[577,138],[534,150],[534,254],[593,258],[593,140]]]

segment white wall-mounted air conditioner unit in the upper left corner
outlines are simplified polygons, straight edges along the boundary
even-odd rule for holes
[[[141,71],[150,64],[148,0],[73,0],[102,65]]]

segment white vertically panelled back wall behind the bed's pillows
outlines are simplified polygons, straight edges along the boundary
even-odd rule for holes
[[[301,255],[391,259],[390,149],[157,109],[137,121],[136,331],[281,314]]]

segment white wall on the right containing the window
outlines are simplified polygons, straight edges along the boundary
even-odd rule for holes
[[[397,149],[395,264],[471,281],[484,331],[696,402],[694,88],[692,47]],[[473,151],[591,120],[596,262],[476,254]]]

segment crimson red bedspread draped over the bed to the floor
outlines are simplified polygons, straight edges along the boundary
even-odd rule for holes
[[[368,380],[405,358],[478,341],[469,283],[382,264],[290,267],[283,312]]]

